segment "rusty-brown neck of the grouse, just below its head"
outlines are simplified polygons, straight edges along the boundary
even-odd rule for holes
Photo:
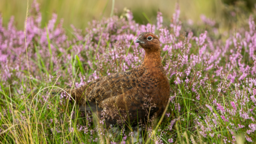
[[[160,51],[146,51],[143,66],[154,69],[161,65]]]

